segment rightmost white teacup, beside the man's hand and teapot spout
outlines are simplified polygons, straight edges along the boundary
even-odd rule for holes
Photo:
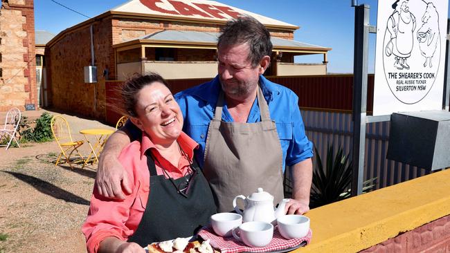
[[[309,231],[309,218],[298,214],[287,214],[277,218],[278,231],[287,239],[302,238]]]

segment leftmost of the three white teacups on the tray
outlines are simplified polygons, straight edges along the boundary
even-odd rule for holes
[[[242,224],[242,216],[234,213],[218,213],[211,216],[211,225],[218,236],[232,236],[231,229]]]

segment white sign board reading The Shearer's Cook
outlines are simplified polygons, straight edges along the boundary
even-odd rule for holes
[[[448,3],[378,1],[373,115],[442,109]]]

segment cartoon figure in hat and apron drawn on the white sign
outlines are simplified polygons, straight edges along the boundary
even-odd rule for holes
[[[390,41],[386,45],[386,55],[395,55],[395,68],[409,69],[406,59],[413,50],[415,17],[409,12],[409,0],[396,0],[392,8],[394,12],[388,19],[386,29],[390,32]]]

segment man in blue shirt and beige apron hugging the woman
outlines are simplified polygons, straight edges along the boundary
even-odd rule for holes
[[[197,162],[219,212],[231,211],[235,196],[247,196],[258,187],[278,203],[286,165],[294,179],[287,213],[309,210],[312,143],[305,135],[298,97],[262,76],[271,50],[269,31],[259,21],[252,17],[228,21],[217,43],[218,75],[175,95],[183,112],[183,131],[199,143]],[[96,187],[105,197],[123,198],[122,190],[131,192],[117,162],[128,143],[128,135],[118,131],[102,153]]]

